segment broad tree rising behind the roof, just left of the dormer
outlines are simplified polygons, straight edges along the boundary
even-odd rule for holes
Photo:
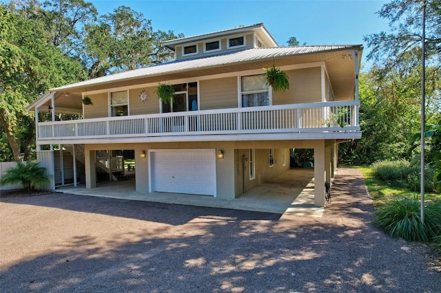
[[[85,33],[86,66],[92,78],[169,61],[173,54],[161,41],[176,39],[172,31],[153,32],[151,21],[127,6],[86,25]]]

